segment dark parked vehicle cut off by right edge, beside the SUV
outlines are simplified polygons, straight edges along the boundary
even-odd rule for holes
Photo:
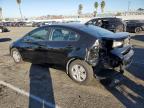
[[[144,20],[126,20],[127,32],[138,33],[144,30]]]

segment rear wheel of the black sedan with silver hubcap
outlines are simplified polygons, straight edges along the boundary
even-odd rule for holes
[[[82,60],[75,60],[68,68],[70,78],[82,85],[89,85],[94,79],[92,66]]]

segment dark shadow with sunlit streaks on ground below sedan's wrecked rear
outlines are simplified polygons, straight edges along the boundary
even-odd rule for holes
[[[104,87],[126,108],[143,108],[144,107],[144,86],[137,84],[126,76],[115,87],[109,87],[106,81],[101,83]]]

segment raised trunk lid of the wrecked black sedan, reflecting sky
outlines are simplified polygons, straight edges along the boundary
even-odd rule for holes
[[[99,36],[100,39],[106,39],[106,40],[124,40],[128,38],[130,35],[127,32],[119,32],[119,33],[113,33],[110,35],[105,36]]]

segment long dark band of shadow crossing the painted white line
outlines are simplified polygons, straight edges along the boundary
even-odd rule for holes
[[[49,67],[32,64],[29,77],[31,94],[29,97],[29,108],[55,107],[53,84]]]

